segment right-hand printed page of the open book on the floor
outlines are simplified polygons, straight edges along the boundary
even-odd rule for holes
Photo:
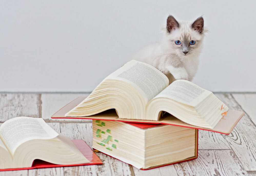
[[[33,139],[53,139],[58,136],[42,118],[16,117],[0,127],[0,137],[13,155],[17,147]]]

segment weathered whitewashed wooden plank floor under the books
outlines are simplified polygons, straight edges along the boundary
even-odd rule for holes
[[[92,146],[91,120],[50,119],[62,106],[88,94],[2,93],[0,122],[18,116],[43,118],[70,139],[83,139]],[[139,170],[106,156],[103,165],[0,172],[2,175],[256,175],[256,93],[215,94],[230,109],[244,111],[230,135],[199,130],[198,159],[151,170]],[[0,124],[1,124],[0,123]],[[1,155],[1,154],[0,154]]]

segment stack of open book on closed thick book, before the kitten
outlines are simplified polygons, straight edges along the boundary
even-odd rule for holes
[[[169,85],[161,71],[132,60],[52,118],[93,119],[93,148],[151,169],[196,159],[198,129],[229,134],[243,114],[190,81]]]

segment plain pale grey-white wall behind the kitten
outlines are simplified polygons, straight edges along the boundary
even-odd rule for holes
[[[1,1],[0,91],[88,92],[141,47],[169,14],[203,15],[209,33],[193,82],[256,91],[255,1]]]

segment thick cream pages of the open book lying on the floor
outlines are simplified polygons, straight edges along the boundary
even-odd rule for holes
[[[70,139],[53,130],[42,118],[31,117],[16,117],[1,125],[0,154],[0,169],[30,168],[35,159],[57,165],[91,162]]]

